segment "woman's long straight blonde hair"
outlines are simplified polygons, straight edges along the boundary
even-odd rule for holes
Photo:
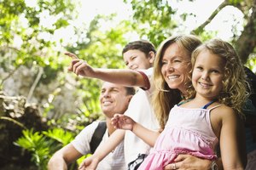
[[[177,43],[189,57],[192,52],[201,44],[201,40],[193,35],[177,35],[167,38],[160,44],[154,59],[154,84],[155,92],[152,99],[154,113],[160,127],[164,128],[172,107],[181,100],[181,93],[177,89],[168,87],[163,75],[161,74],[163,54],[172,43]]]

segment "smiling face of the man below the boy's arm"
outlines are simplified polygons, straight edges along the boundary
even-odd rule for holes
[[[104,82],[100,95],[100,102],[103,113],[111,118],[114,114],[123,114],[129,105],[132,95],[126,94],[122,85]]]

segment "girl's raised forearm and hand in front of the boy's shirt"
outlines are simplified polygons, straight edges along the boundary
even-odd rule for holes
[[[115,114],[111,121],[115,128],[131,130],[132,133],[135,133],[137,137],[143,139],[143,141],[149,144],[151,147],[154,146],[156,139],[160,135],[159,132],[149,130],[148,128],[143,127],[141,124],[134,122],[129,116]]]

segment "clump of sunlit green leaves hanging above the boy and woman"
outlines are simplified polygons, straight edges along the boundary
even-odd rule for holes
[[[125,1],[127,3],[127,1]],[[176,10],[166,0],[131,0],[133,9],[132,27],[157,47],[172,35],[177,21],[172,20]]]

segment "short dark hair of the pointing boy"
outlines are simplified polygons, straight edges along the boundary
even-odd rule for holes
[[[156,50],[154,48],[154,44],[151,43],[151,42],[148,42],[146,40],[138,40],[138,41],[127,43],[125,45],[125,48],[123,48],[122,54],[124,54],[125,52],[127,52],[131,49],[140,50],[144,54],[149,54],[150,51],[153,51],[154,54],[156,53]]]

